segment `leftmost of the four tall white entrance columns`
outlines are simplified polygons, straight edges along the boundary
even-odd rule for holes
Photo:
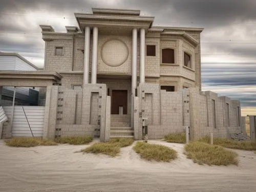
[[[89,83],[90,27],[84,31],[83,84]]]

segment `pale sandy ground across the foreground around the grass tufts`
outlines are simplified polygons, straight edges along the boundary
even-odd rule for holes
[[[88,145],[15,148],[0,140],[0,191],[256,191],[256,154],[238,151],[239,166],[198,165],[173,147],[170,163],[140,159],[132,146],[118,157],[74,153]]]

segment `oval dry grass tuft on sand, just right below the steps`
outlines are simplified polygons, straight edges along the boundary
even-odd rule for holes
[[[172,148],[159,144],[137,142],[133,150],[146,160],[169,162],[177,158],[177,152]]]

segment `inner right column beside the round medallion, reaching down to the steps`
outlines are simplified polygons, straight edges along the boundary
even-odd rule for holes
[[[138,30],[133,29],[133,52],[132,52],[132,101],[131,101],[131,126],[134,124],[134,97],[137,88],[137,41]]]

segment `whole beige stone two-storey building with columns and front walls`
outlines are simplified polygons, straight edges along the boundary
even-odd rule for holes
[[[44,137],[157,139],[189,127],[196,139],[241,131],[239,101],[201,92],[202,28],[156,27],[139,10],[93,8],[75,17],[79,27],[66,33],[40,25],[40,73],[54,81],[41,89]]]

